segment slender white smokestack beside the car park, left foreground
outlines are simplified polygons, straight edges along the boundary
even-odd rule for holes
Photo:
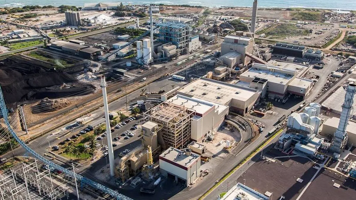
[[[110,118],[109,118],[109,108],[108,108],[108,97],[106,95],[106,81],[105,77],[101,77],[101,90],[103,90],[103,100],[104,100],[104,113],[105,113],[105,123],[106,123],[106,135],[108,139],[108,154],[109,154],[109,164],[110,164],[110,175],[114,177],[115,175],[115,160],[114,151],[112,150],[112,139],[111,139],[111,128],[110,128]]]

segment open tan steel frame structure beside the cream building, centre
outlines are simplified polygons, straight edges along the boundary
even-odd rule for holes
[[[152,121],[162,126],[162,137],[168,147],[181,149],[189,143],[189,112],[184,106],[163,102],[143,116],[145,121]]]

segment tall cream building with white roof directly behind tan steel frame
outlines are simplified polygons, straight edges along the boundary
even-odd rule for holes
[[[201,142],[207,134],[218,130],[225,116],[229,114],[229,106],[183,95],[173,96],[166,103],[183,106],[188,109],[187,111],[192,115],[190,138],[196,142]]]

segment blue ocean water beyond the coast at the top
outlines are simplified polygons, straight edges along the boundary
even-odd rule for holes
[[[112,0],[0,0],[0,7],[6,6],[24,6],[24,5],[74,5],[84,6],[85,3],[99,2],[120,2]],[[168,4],[182,5],[189,4],[194,6],[239,6],[252,7],[253,0],[180,0],[180,1],[150,1],[150,0],[129,0],[122,1],[123,4]],[[356,0],[259,0],[259,7],[308,7],[308,8],[324,8],[324,9],[340,9],[340,10],[356,10]]]

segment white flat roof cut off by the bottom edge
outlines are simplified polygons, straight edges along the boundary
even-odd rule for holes
[[[220,200],[268,200],[268,196],[265,196],[252,188],[247,187],[242,183],[237,183],[232,186],[232,188],[227,191],[227,193]]]

